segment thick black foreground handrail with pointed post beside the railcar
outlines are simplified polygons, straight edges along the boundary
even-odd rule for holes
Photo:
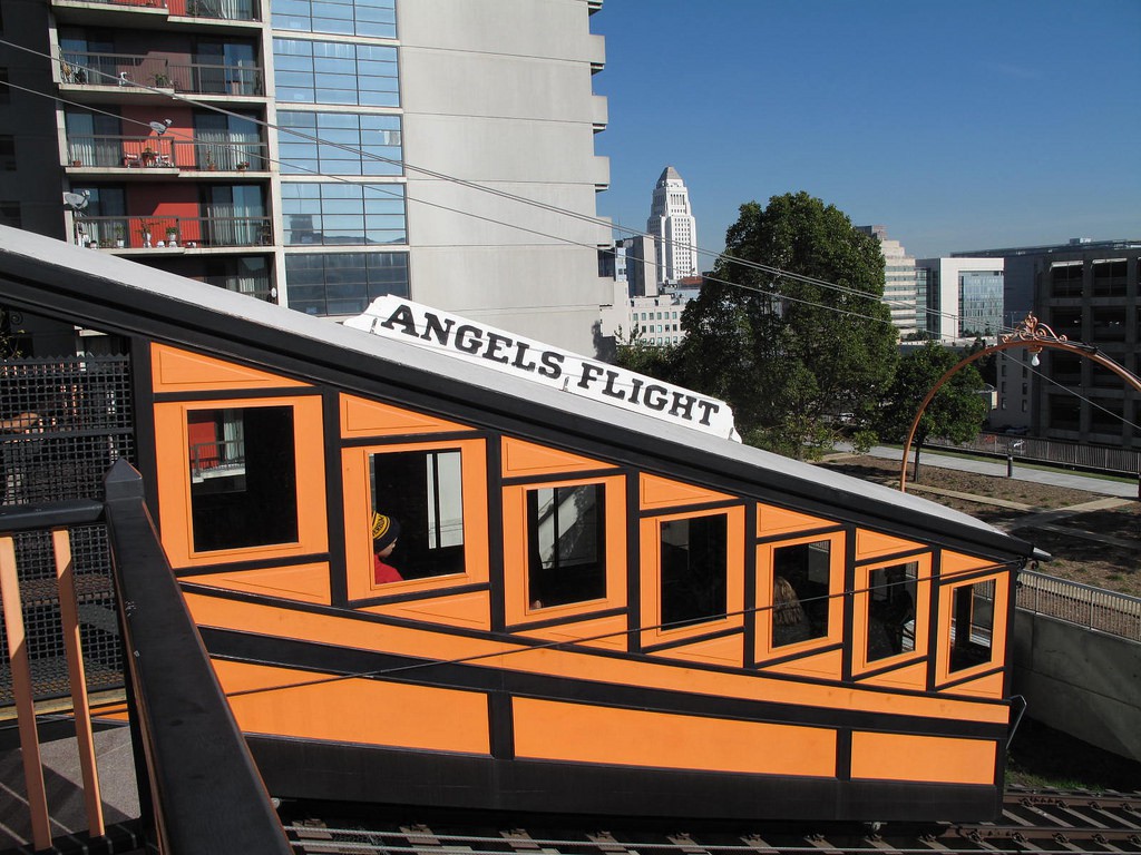
[[[106,477],[106,520],[145,759],[154,842],[169,855],[288,855],[291,847],[202,644],[126,459]]]

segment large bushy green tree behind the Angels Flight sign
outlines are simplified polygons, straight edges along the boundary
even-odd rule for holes
[[[742,205],[682,316],[678,382],[727,400],[746,442],[818,456],[835,417],[861,424],[891,382],[897,335],[883,284],[879,242],[835,206],[807,193]]]

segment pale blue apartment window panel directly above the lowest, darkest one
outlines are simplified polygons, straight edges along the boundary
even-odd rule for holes
[[[400,185],[283,182],[282,213],[286,246],[407,243]]]

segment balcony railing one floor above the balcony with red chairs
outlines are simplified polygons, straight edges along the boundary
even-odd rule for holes
[[[252,65],[172,63],[165,57],[132,54],[90,54],[70,50],[59,62],[64,83],[75,85],[138,85],[195,95],[260,96],[261,68]]]

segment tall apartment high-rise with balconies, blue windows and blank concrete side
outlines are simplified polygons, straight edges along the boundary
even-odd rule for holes
[[[600,7],[5,0],[0,217],[310,315],[391,293],[590,353]]]

